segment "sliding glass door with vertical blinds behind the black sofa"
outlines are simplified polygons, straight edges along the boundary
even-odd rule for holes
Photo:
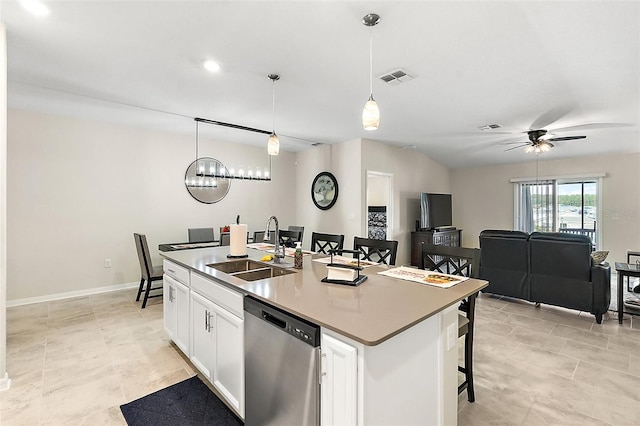
[[[597,248],[601,177],[512,179],[515,229],[586,235]]]

